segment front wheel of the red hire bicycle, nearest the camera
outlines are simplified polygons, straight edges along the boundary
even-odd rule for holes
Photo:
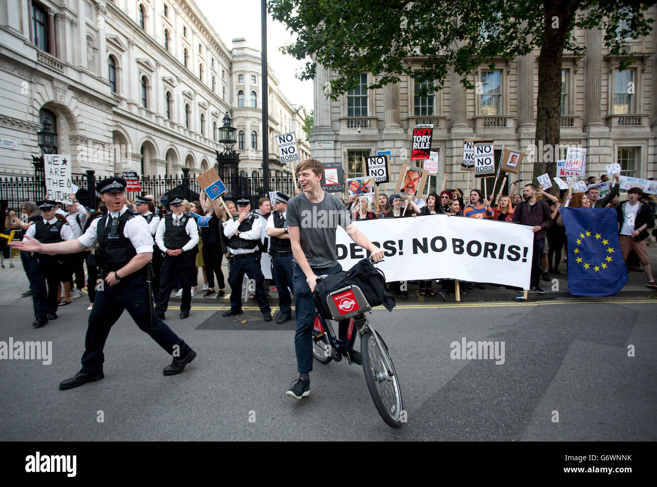
[[[397,373],[392,365],[392,358],[388,354],[388,349],[378,335],[382,346],[379,347],[372,331],[368,331],[361,337],[361,356],[363,358],[363,372],[365,373],[365,382],[374,401],[376,410],[381,415],[386,424],[393,428],[401,426],[401,391],[397,381]],[[388,358],[392,366],[392,373],[386,369],[383,356]]]

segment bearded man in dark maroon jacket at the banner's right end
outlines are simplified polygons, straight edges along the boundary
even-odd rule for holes
[[[536,199],[536,185],[525,184],[522,188],[524,201],[514,209],[513,222],[532,226],[534,233],[532,253],[532,276],[530,278],[530,289],[537,293],[545,293],[539,280],[541,278],[541,254],[545,247],[545,236],[547,228],[552,224],[550,207],[545,201]]]

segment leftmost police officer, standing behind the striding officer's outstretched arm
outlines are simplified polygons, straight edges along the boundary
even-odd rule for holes
[[[41,218],[26,230],[25,236],[29,238],[24,237],[24,242],[36,239],[41,244],[56,244],[74,240],[73,231],[66,220],[55,217],[56,201],[37,201],[37,205],[41,210]],[[28,272],[36,318],[32,326],[39,327],[45,325],[48,320],[57,320],[57,286],[62,275],[60,257],[42,251],[33,252],[28,262]]]

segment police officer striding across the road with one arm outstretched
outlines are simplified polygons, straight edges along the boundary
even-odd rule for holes
[[[81,252],[93,247],[96,242],[99,244],[97,259],[104,280],[99,279],[93,310],[89,314],[82,369],[74,377],[62,381],[60,389],[72,389],[104,378],[102,349],[112,325],[124,309],[140,329],[173,356],[171,365],[164,368],[164,375],[182,372],[196,357],[196,352],[189,345],[162,320],[153,316],[147,283],[141,272],[150,262],[152,240],[147,222],[139,217],[137,211],[125,206],[125,179],[103,179],[96,190],[107,205],[108,215],[91,222],[85,234],[77,240],[41,244],[28,238],[29,242],[12,242],[12,245],[28,252],[64,254]]]

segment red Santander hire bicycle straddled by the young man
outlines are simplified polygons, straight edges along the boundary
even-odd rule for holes
[[[326,276],[319,276],[317,282]],[[374,329],[365,316],[371,310],[367,299],[358,286],[346,286],[333,291],[327,297],[328,307],[333,320],[349,321],[347,339],[338,339],[330,320],[325,320],[315,313],[313,325],[313,357],[320,364],[328,364],[331,360],[340,362],[343,352],[349,350],[355,341],[353,330],[356,329],[361,337],[361,357],[363,360],[363,373],[374,406],[382,419],[393,428],[402,425],[403,405],[399,381],[392,358],[388,353],[388,346],[381,335]],[[344,354],[348,362],[351,359]]]

